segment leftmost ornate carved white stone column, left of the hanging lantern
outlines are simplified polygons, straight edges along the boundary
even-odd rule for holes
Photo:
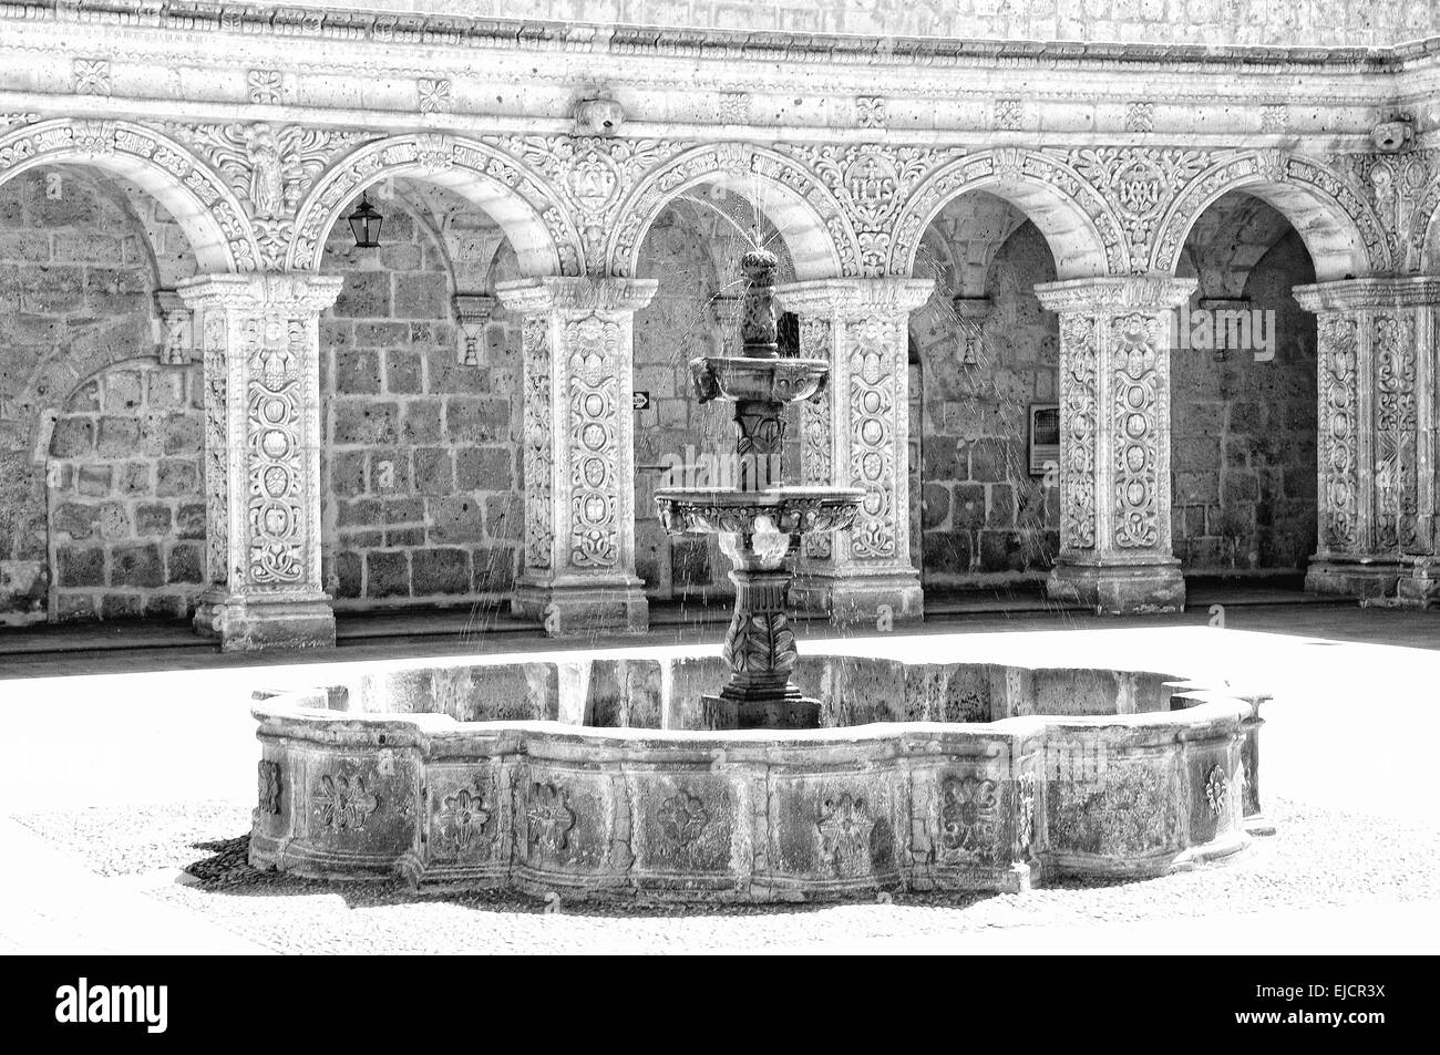
[[[226,652],[336,643],[320,579],[320,312],[341,279],[180,285],[204,356],[206,574],[194,626]]]

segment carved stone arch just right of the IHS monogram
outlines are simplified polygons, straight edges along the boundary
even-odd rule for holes
[[[1061,279],[1128,271],[1120,222],[1094,187],[1050,154],[998,148],[950,161],[916,187],[896,222],[891,273],[912,273],[930,222],[948,202],[972,190],[995,194],[1024,213],[1045,236]]]

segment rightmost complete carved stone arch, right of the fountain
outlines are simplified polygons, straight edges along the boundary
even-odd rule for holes
[[[1385,229],[1348,180],[1315,158],[1282,150],[1231,155],[1197,176],[1156,227],[1149,271],[1175,273],[1195,220],[1231,190],[1273,206],[1300,233],[1319,282],[1390,269]]]

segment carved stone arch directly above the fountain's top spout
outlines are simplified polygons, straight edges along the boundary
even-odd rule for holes
[[[675,197],[701,184],[744,197],[769,219],[789,250],[796,279],[860,273],[860,250],[834,194],[789,158],[743,142],[688,150],[641,180],[621,203],[605,250],[609,272],[634,275],[655,217]]]

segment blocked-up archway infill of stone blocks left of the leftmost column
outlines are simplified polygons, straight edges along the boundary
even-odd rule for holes
[[[58,619],[183,617],[204,579],[200,366],[109,367],[50,438]]]

